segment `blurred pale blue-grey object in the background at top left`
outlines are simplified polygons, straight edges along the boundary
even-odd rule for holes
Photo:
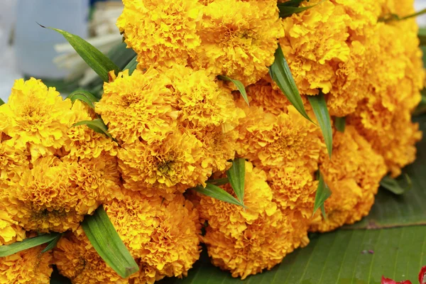
[[[40,79],[60,79],[67,70],[60,70],[53,58],[58,55],[53,46],[66,40],[43,26],[87,38],[89,0],[18,0],[16,7],[15,54],[18,70]]]

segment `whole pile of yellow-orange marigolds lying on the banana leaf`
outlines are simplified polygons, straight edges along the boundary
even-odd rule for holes
[[[413,1],[298,1],[312,7],[280,17],[290,2],[123,0],[117,26],[138,65],[109,72],[99,102],[16,80],[0,107],[0,245],[60,239],[0,258],[0,283],[48,283],[53,265],[72,283],[181,278],[202,244],[244,279],[307,246],[308,232],[366,216],[422,135],[411,122],[425,79],[415,20],[379,21],[413,13]],[[314,123],[271,79],[278,47]],[[327,102],[332,153],[312,96]],[[103,121],[107,135],[81,121]],[[226,182],[236,159],[241,204],[195,190],[225,180],[236,198]],[[324,214],[314,210],[321,179],[332,192]],[[99,206],[136,261],[128,278],[81,226]]]

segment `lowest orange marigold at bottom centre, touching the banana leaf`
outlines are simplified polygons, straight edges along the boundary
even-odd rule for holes
[[[208,226],[203,239],[212,263],[241,279],[270,270],[286,254],[309,242],[307,225],[294,213],[263,214],[236,237]]]

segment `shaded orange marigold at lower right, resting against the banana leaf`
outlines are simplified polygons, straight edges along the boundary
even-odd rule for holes
[[[366,216],[374,202],[380,180],[386,174],[386,165],[371,145],[346,126],[344,133],[335,131],[333,158],[327,154],[320,161],[324,181],[332,190],[325,201],[327,219],[312,221],[311,231],[331,231],[343,224],[353,224]]]

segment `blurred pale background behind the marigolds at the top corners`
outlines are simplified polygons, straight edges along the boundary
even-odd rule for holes
[[[120,0],[0,0],[0,98],[7,102],[13,81],[21,77],[42,79],[62,94],[78,87],[99,92],[102,81],[62,35],[38,23],[80,35],[126,65],[135,54],[115,26],[122,9]],[[426,0],[415,0],[415,9],[426,9]],[[425,15],[417,21],[426,26]]]

